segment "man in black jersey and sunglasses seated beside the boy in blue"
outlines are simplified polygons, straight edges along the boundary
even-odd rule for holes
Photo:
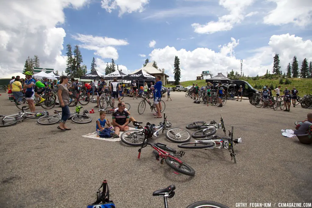
[[[118,103],[118,111],[113,113],[113,126],[115,126],[115,134],[119,135],[119,131],[129,130],[129,113],[125,111],[124,102]]]

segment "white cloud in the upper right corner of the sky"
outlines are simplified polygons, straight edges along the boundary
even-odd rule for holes
[[[267,0],[275,2],[276,8],[263,18],[263,22],[272,25],[294,23],[306,26],[311,23],[312,4],[307,0]]]

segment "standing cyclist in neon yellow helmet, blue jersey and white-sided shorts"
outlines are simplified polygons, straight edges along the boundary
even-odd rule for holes
[[[26,89],[25,97],[28,102],[28,106],[31,112],[36,111],[36,107],[34,104],[34,95],[35,95],[35,83],[36,81],[32,78],[32,72],[25,72],[26,81],[23,86]]]

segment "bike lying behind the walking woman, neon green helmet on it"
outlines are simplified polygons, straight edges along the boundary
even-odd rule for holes
[[[71,116],[67,119],[71,119],[71,121],[79,124],[85,124],[90,123],[92,121],[92,118],[87,115],[88,110],[84,110],[83,114],[80,115],[80,109],[83,108],[80,106],[80,108],[76,107],[76,112],[71,113]],[[54,111],[54,115],[52,116],[43,116],[37,120],[38,124],[41,125],[52,125],[56,124],[61,121],[62,118],[62,111]]]

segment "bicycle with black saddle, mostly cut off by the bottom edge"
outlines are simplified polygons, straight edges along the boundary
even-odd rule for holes
[[[102,188],[102,191],[101,191]],[[153,196],[162,196],[164,207],[168,208],[168,199],[175,195],[176,187],[170,185],[167,188],[160,189],[153,192]],[[87,208],[115,208],[115,203],[110,200],[110,191],[107,185],[107,181],[104,180],[100,188],[96,191],[95,201],[92,204],[87,205]],[[187,208],[228,208],[225,205],[219,204],[213,201],[197,201]]]

